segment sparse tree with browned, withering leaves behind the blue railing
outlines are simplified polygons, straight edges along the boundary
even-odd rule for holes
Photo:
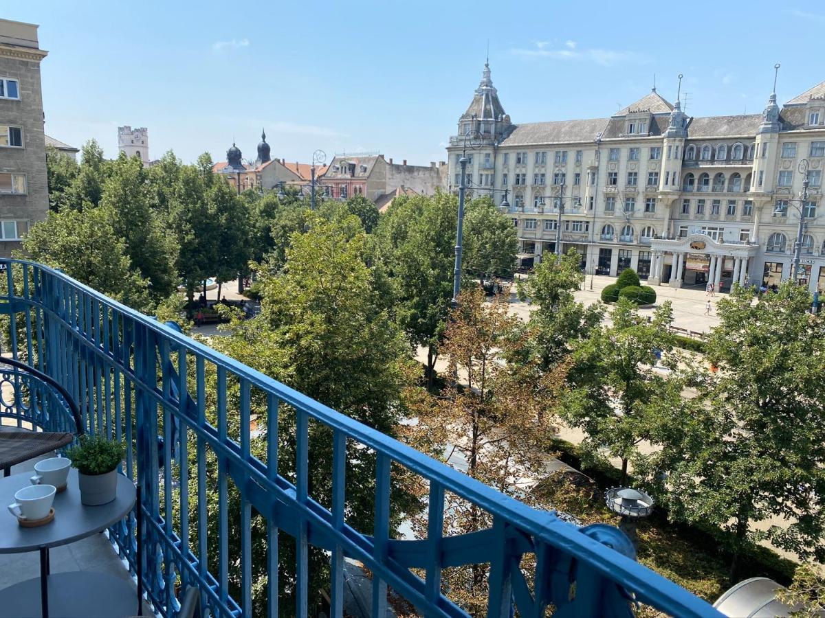
[[[491,302],[486,302],[479,286],[460,294],[441,349],[461,385],[448,386],[439,396],[422,394],[411,401],[411,413],[417,419],[411,428],[412,441],[504,494],[550,508],[537,502],[530,489],[546,474],[547,453],[556,432],[554,417],[544,410],[553,406],[563,386],[564,370],[560,367],[553,374],[542,374],[539,383],[532,383],[504,362],[526,344],[508,300],[507,289]],[[418,534],[427,536],[427,517],[415,518],[413,525]],[[492,525],[493,517],[482,508],[446,494],[445,536]],[[529,580],[531,565],[526,562],[521,568]],[[487,564],[449,569],[443,577],[445,592],[470,616],[482,616],[488,610]]]

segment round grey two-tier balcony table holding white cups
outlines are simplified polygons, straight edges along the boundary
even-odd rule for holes
[[[0,479],[0,506],[14,502],[18,489],[31,485],[32,472]],[[0,590],[0,618],[12,616],[134,616],[138,595],[130,582],[110,574],[82,571],[50,574],[49,548],[67,545],[106,530],[134,507],[134,483],[117,475],[117,494],[108,504],[80,503],[78,471],[68,473],[67,489],[54,496],[54,520],[36,528],[21,527],[16,517],[0,513],[0,554],[40,552],[40,577]],[[40,590],[38,600],[37,591]],[[49,607],[54,609],[50,611]]]

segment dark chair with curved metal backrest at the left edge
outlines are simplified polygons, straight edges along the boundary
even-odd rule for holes
[[[12,466],[71,444],[76,435],[83,433],[83,424],[78,405],[54,378],[14,358],[0,357],[0,366],[2,365],[9,365],[57,391],[68,405],[75,426],[75,433],[29,431],[21,427],[0,426],[0,470],[3,471],[3,476],[8,476],[12,473]]]

